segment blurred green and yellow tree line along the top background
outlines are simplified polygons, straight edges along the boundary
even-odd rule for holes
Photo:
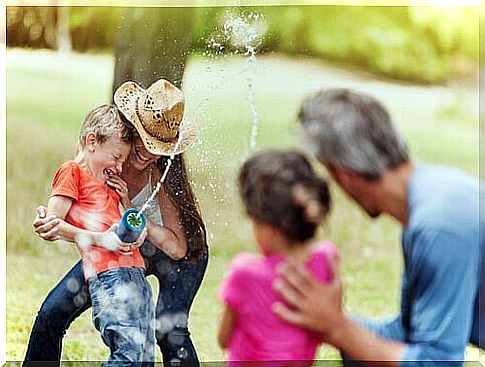
[[[170,12],[167,19],[172,26],[181,25],[190,32],[191,52],[202,53],[207,51],[207,40],[222,29],[228,14],[256,11],[263,15],[267,28],[259,53],[317,57],[422,83],[469,75],[478,62],[478,10],[472,7],[137,9],[8,7],[7,46],[57,49],[60,38],[67,37],[75,51],[111,52],[117,31],[132,12],[140,15],[136,27],[132,27],[140,33],[137,42],[156,44],[163,39],[163,32],[150,31],[156,21],[153,14],[163,15],[165,11]]]

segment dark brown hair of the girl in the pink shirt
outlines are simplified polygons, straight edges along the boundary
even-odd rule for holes
[[[325,180],[296,151],[267,150],[241,167],[239,193],[248,216],[269,224],[291,242],[305,242],[330,210]]]

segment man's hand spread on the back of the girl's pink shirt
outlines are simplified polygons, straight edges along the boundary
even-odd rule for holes
[[[302,264],[283,264],[279,269],[281,278],[273,286],[292,307],[282,303],[273,304],[273,311],[289,323],[306,327],[330,342],[332,333],[345,321],[342,310],[343,284],[338,260],[330,260],[333,277],[322,284]]]

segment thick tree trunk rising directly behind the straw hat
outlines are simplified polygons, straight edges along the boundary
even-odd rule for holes
[[[126,8],[115,44],[113,93],[127,80],[147,88],[165,78],[181,87],[194,16],[194,8]]]

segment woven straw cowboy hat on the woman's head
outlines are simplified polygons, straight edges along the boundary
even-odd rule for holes
[[[195,123],[184,119],[184,95],[168,80],[159,79],[146,90],[125,82],[116,89],[114,102],[153,154],[182,153],[197,139]]]

